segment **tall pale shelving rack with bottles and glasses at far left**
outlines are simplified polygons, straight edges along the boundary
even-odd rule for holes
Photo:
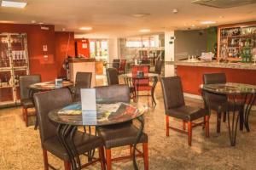
[[[20,103],[19,77],[28,73],[26,34],[0,34],[0,107]]]

